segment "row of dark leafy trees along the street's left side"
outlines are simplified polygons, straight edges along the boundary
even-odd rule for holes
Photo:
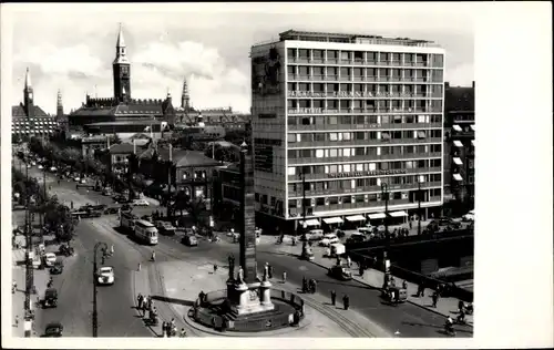
[[[27,177],[12,167],[12,188],[18,194],[18,202],[24,204],[33,214],[43,216],[43,228],[53,233],[60,241],[70,241],[74,237],[75,223],[68,206],[61,204],[57,196],[50,196],[37,178]]]

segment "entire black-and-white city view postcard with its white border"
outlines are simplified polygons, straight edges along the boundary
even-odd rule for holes
[[[478,238],[516,219],[481,178],[527,166],[486,151],[512,136],[503,109],[480,107],[479,4],[50,6],[2,4],[2,343],[479,347],[502,328],[481,320],[502,323],[541,289],[551,323],[536,331],[551,331],[535,347],[552,346],[551,209],[505,234],[546,234],[550,290],[476,277],[495,250],[540,251]],[[535,195],[552,208],[547,186]],[[519,299],[491,310],[511,288]]]

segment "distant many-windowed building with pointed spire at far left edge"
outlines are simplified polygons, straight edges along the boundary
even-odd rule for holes
[[[59,102],[61,103],[61,100]],[[32,136],[45,137],[57,131],[58,122],[55,117],[47,114],[40,106],[34,104],[31,72],[27,69],[23,102],[11,107],[12,141],[17,142]]]

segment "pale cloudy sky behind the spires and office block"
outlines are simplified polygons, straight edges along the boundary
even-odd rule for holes
[[[137,99],[163,99],[170,89],[179,101],[186,78],[194,106],[249,111],[250,45],[288,29],[432,40],[448,51],[447,81],[473,80],[471,3],[9,6],[16,11],[10,13],[11,101],[21,101],[29,66],[35,103],[48,113],[55,111],[58,89],[66,113],[81,105],[85,92],[113,95],[120,22]]]

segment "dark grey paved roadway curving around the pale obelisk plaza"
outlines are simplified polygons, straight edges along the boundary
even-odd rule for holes
[[[31,172],[30,172],[31,173]],[[62,202],[73,200],[75,206],[84,205],[85,203],[104,203],[112,204],[110,197],[102,196],[95,192],[75,189],[75,183],[61,182],[58,185],[51,183],[53,192],[55,192]],[[138,215],[151,213],[154,207],[135,208]],[[182,245],[179,237],[161,236],[160,244],[155,247],[145,247],[132,241],[126,236],[116,233],[113,228],[117,227],[119,223],[115,215],[103,216],[98,219],[83,219],[79,225],[79,244],[76,245],[78,254],[84,255],[84,259],[80,259],[71,270],[71,281],[60,279],[60,299],[64,301],[64,296],[72,296],[69,299],[68,311],[65,315],[64,307],[58,310],[48,310],[44,312],[48,320],[62,318],[62,322],[72,323],[73,318],[90,317],[92,311],[92,247],[95,241],[102,239],[109,245],[115,247],[115,257],[109,260],[114,266],[116,271],[116,284],[112,287],[100,288],[99,291],[99,320],[100,332],[102,337],[115,337],[126,334],[133,336],[152,336],[150,330],[143,326],[142,320],[136,317],[136,312],[132,309],[134,305],[132,274],[136,270],[138,261],[146,261],[152,249],[156,251],[157,261],[172,260],[197,260],[204,259],[208,261],[218,261],[224,266],[227,264],[226,257],[229,253],[238,256],[238,245],[229,241],[228,237],[222,235],[222,241],[211,244],[201,239],[198,247],[187,247]],[[300,250],[300,246],[297,247]],[[123,254],[121,254],[123,253]],[[258,247],[258,265],[261,267],[268,261],[275,268],[275,277],[280,278],[284,270],[287,271],[288,281],[299,287],[304,276],[315,278],[318,281],[318,292],[320,300],[330,298],[330,290],[334,289],[341,305],[341,297],[347,294],[351,300],[351,310],[365,317],[368,322],[371,320],[377,326],[381,327],[389,333],[400,332],[401,337],[444,337],[442,329],[444,317],[430,312],[423,308],[403,303],[399,306],[389,306],[379,297],[379,291],[371,289],[367,285],[356,280],[342,282],[327,276],[327,270],[315,264],[299,260],[296,256],[277,251],[275,244],[264,244]],[[147,264],[147,262],[144,262]],[[66,272],[64,272],[66,274]],[[64,275],[68,278],[70,274]],[[89,276],[89,277],[86,277]],[[89,280],[86,282],[86,280]],[[161,288],[160,286],[150,286],[151,288]],[[153,292],[161,292],[155,290]],[[198,290],[199,292],[199,290]],[[109,297],[109,298],[106,298]],[[73,299],[73,300],[71,300]],[[86,301],[85,301],[86,300]],[[89,301],[90,300],[90,301]],[[85,301],[85,302],[83,302]],[[322,301],[324,302],[324,301]],[[330,307],[330,306],[327,306]],[[161,313],[165,318],[175,317],[173,311],[163,309]],[[73,311],[73,312],[71,312]],[[57,313],[59,312],[59,313]],[[166,316],[164,316],[166,313]],[[44,321],[43,321],[44,322]],[[74,322],[75,331],[83,332],[84,336],[91,333],[91,323],[89,320],[80,320]],[[43,326],[44,323],[41,323]],[[472,329],[459,328],[459,337],[471,337]],[[194,331],[192,331],[194,334]]]

